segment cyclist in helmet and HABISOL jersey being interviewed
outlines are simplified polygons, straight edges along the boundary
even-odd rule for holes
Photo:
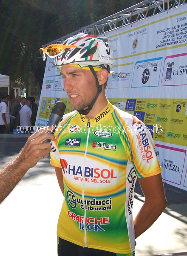
[[[105,95],[111,45],[107,38],[78,34],[41,52],[61,68],[73,110],[52,142],[51,165],[65,197],[58,255],[133,256],[135,239],[156,221],[166,199],[150,133]],[[136,177],[145,202],[133,221]]]

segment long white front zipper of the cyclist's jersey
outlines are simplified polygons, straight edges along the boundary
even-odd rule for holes
[[[90,119],[88,119],[88,123],[87,123],[87,127],[88,127],[88,134],[87,134],[87,138],[86,138],[86,148],[85,148],[85,155],[84,155],[84,168],[83,170],[85,170],[85,162],[86,162],[86,154],[87,154],[87,150],[88,150],[88,140],[89,140],[89,134],[90,134]],[[82,202],[84,205],[84,242],[85,242],[85,247],[87,247],[87,242],[86,242],[86,207],[85,207],[85,172],[83,172],[83,188],[82,188]]]

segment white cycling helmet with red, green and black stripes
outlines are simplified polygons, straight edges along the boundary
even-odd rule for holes
[[[110,70],[114,63],[111,45],[108,38],[96,35],[77,34],[68,38],[63,44],[53,44],[45,49],[40,49],[41,55],[45,53],[54,58],[54,64],[58,67],[78,65],[86,68],[89,66],[106,68]]]

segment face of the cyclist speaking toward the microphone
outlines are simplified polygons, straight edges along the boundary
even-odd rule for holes
[[[97,93],[96,81],[91,71],[79,67],[62,67],[61,75],[71,108],[87,108]]]

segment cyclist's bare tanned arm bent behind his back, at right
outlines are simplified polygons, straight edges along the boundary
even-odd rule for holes
[[[145,202],[134,220],[135,238],[147,230],[167,205],[161,174],[139,178]]]

